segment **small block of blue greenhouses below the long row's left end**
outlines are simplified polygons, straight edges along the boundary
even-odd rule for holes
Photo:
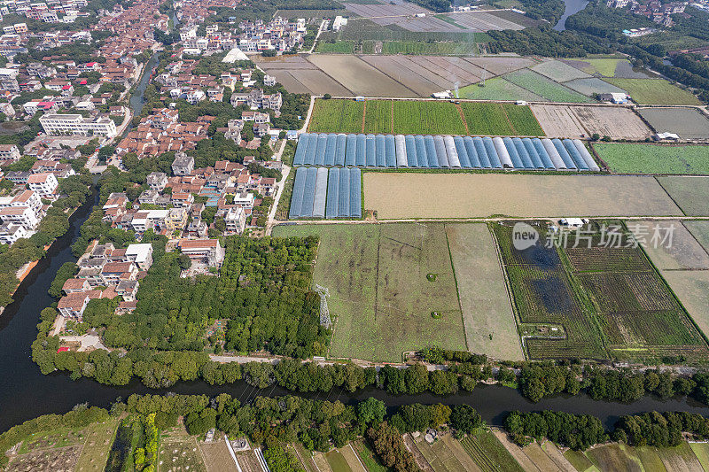
[[[348,167],[298,167],[289,218],[361,218],[362,172]]]

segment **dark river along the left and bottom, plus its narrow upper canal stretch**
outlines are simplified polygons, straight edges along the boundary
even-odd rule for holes
[[[136,93],[130,99],[130,105],[136,114],[143,106],[143,92],[157,60],[153,57],[145,66],[144,76],[136,87]],[[501,424],[505,415],[513,410],[538,411],[557,410],[572,414],[593,414],[599,417],[607,427],[611,427],[622,414],[637,414],[649,411],[688,411],[709,416],[709,406],[691,398],[673,398],[662,401],[646,396],[632,404],[608,401],[596,401],[585,394],[569,397],[557,395],[532,403],[523,398],[519,391],[501,385],[480,384],[474,391],[461,392],[448,397],[438,397],[429,393],[420,395],[393,396],[375,388],[349,393],[335,389],[329,393],[300,394],[284,390],[277,386],[256,389],[240,381],[230,385],[212,386],[204,382],[177,383],[166,390],[152,390],[137,380],[123,387],[101,385],[91,379],[71,380],[66,373],[42,375],[32,361],[30,345],[37,335],[36,325],[40,321],[39,313],[50,306],[55,299],[47,293],[57,270],[65,262],[75,262],[71,244],[79,236],[79,229],[89,217],[91,208],[98,203],[98,193],[94,189],[92,197],[70,218],[70,228],[65,236],[52,244],[47,254],[37,264],[30,275],[19,285],[14,295],[15,301],[6,307],[0,315],[0,431],[12,425],[24,422],[35,416],[50,413],[66,413],[77,404],[88,402],[95,406],[110,406],[116,398],[127,398],[133,393],[168,393],[185,395],[205,394],[216,396],[229,393],[234,398],[245,402],[259,395],[281,396],[301,395],[307,398],[339,400],[352,403],[365,398],[381,399],[387,406],[401,406],[410,403],[446,403],[448,405],[469,404],[475,407],[488,423]]]

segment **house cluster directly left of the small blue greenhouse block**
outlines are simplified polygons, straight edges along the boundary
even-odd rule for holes
[[[276,191],[275,178],[252,174],[245,165],[226,160],[217,161],[214,167],[194,168],[194,159],[177,152],[172,171],[171,177],[149,174],[148,190],[135,202],[129,202],[125,193],[111,194],[103,207],[104,221],[114,228],[133,230],[137,237],[149,229],[166,236],[204,237],[209,226],[202,213],[215,207],[214,216],[224,220],[224,233],[241,234],[253,226],[253,208],[261,204],[254,194],[270,197]]]

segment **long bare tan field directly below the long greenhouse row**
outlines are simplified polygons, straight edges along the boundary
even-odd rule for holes
[[[362,178],[364,208],[381,220],[682,215],[651,177],[367,172]]]

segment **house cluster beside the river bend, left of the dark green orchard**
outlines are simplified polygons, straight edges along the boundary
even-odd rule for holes
[[[65,318],[81,321],[94,298],[121,297],[121,309],[135,307],[140,280],[152,266],[152,244],[130,244],[116,249],[113,244],[96,244],[76,262],[79,272],[68,279],[57,309]]]

